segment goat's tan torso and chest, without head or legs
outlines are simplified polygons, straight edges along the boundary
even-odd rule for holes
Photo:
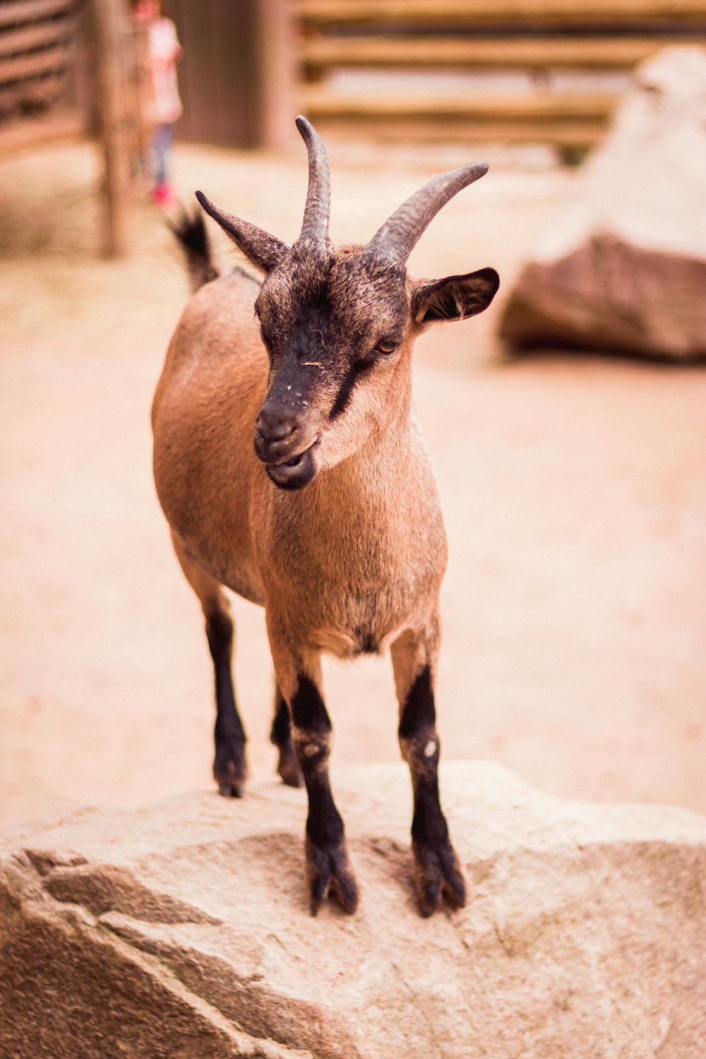
[[[236,270],[183,313],[152,412],[160,501],[186,553],[221,585],[267,605],[295,646],[342,658],[379,651],[432,621],[446,566],[423,439],[405,411],[384,438],[306,490],[278,489],[252,445],[268,381],[256,286]]]

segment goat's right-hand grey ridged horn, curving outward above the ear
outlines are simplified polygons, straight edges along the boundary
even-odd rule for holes
[[[427,227],[439,210],[457,192],[479,180],[488,172],[487,162],[461,165],[434,177],[418,192],[411,195],[395,211],[382,228],[379,228],[366,247],[366,251],[382,253],[405,262],[421,238]]]

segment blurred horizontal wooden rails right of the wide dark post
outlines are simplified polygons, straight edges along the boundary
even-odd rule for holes
[[[705,0],[295,0],[298,106],[318,125],[384,136],[600,139],[617,102],[601,73],[630,71],[666,43],[706,43]],[[390,89],[350,71],[406,71]],[[479,89],[434,87],[429,73],[487,73]],[[581,88],[567,88],[568,72]],[[521,84],[495,87],[497,74]],[[338,76],[337,76],[338,75]],[[576,78],[575,78],[576,79]],[[427,88],[422,86],[427,85]],[[564,87],[562,87],[564,86]],[[608,86],[608,87],[607,87]]]

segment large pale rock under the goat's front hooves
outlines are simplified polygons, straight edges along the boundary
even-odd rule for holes
[[[309,916],[305,795],[274,784],[5,833],[3,1059],[706,1055],[706,819],[447,761],[470,899],[424,920],[406,770],[334,780],[355,916]]]

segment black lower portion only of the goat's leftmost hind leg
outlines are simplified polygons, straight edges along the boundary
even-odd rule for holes
[[[221,794],[240,797],[248,771],[246,733],[233,690],[233,622],[223,610],[215,610],[207,615],[206,638],[216,677],[216,756],[213,774]]]

